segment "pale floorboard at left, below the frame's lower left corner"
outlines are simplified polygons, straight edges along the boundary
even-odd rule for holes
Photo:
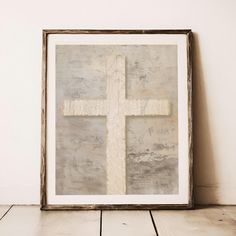
[[[38,206],[14,206],[0,223],[2,236],[97,236],[100,211],[41,212]]]

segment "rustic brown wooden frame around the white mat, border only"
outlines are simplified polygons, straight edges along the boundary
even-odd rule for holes
[[[49,205],[47,203],[47,53],[50,34],[184,34],[187,37],[189,202],[188,204],[80,204]],[[191,30],[43,30],[42,104],[41,104],[41,210],[156,210],[193,208],[193,135],[192,135],[192,32]]]

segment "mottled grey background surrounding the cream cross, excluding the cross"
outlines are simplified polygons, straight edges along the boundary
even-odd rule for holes
[[[106,98],[106,57],[126,56],[128,99],[168,99],[169,117],[127,117],[127,193],[178,192],[177,47],[56,46],[56,194],[106,194],[106,118],[64,117],[64,99]]]

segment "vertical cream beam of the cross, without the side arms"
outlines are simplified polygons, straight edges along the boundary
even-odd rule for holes
[[[107,194],[126,192],[125,58],[107,59]]]

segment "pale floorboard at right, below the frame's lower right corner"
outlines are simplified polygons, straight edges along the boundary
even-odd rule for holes
[[[236,235],[236,220],[226,213],[224,207],[205,207],[189,211],[152,211],[152,215],[161,236]]]

